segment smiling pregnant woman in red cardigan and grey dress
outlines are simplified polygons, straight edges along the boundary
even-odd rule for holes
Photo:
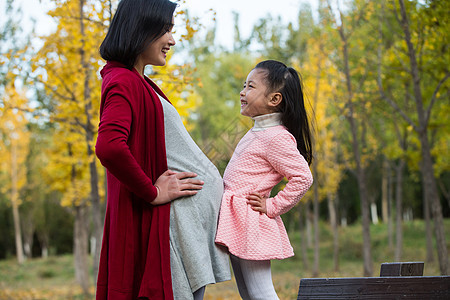
[[[175,45],[175,7],[122,0],[100,46],[107,64],[96,154],[108,199],[97,299],[197,300],[207,284],[231,277],[214,243],[222,178],[144,75]]]

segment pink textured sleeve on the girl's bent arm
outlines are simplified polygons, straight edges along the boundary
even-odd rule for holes
[[[312,185],[313,178],[308,163],[288,131],[272,139],[267,160],[277,173],[288,180],[283,190],[266,200],[267,216],[274,218],[288,212],[300,201]]]

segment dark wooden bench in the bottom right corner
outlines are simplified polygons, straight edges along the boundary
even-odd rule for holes
[[[450,299],[450,276],[422,276],[423,262],[385,263],[380,277],[303,278],[297,300]]]

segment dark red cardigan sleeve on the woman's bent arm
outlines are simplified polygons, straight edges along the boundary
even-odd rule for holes
[[[132,108],[124,93],[110,90],[100,116],[95,153],[103,166],[131,192],[147,202],[158,195],[127,144],[132,126]]]

